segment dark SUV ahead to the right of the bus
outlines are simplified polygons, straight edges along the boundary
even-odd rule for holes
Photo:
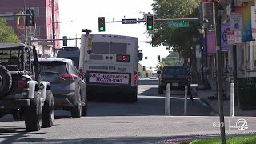
[[[185,90],[185,86],[188,86],[188,94],[191,94],[190,74],[186,66],[164,66],[158,74],[158,94],[163,94],[167,83],[170,83],[170,90]]]

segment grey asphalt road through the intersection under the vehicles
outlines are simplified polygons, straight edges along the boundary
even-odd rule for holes
[[[70,112],[56,111],[54,126],[26,133],[25,122],[0,118],[0,143],[175,143],[194,138],[216,137],[218,116],[199,99],[188,100],[183,116],[183,94],[171,97],[171,116],[164,115],[164,95],[158,87],[140,85],[138,102],[90,102],[87,117],[70,118]],[[256,118],[245,117],[247,130],[234,128],[240,117],[226,117],[226,134],[253,134]],[[233,127],[232,127],[233,126]]]

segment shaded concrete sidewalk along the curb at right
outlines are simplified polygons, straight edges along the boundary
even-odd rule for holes
[[[209,97],[215,96],[216,90],[196,90],[197,85],[191,86],[194,98],[200,98],[205,102],[216,114],[218,114],[218,99],[210,99]],[[227,96],[230,96],[227,91]],[[224,116],[230,116],[230,97],[223,100],[223,113]],[[256,110],[241,110],[238,106],[234,106],[234,116],[252,116],[256,117]]]

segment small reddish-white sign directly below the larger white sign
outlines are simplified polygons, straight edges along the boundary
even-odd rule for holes
[[[242,43],[241,30],[229,30],[227,32],[227,43],[230,45],[237,45]]]

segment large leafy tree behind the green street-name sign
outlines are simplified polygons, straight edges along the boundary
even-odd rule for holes
[[[173,19],[173,18],[198,18],[198,0],[154,0],[152,4],[154,19]],[[146,14],[143,12],[143,18]],[[154,22],[154,30],[146,33],[154,38],[154,41],[161,45],[169,44],[175,52],[182,55],[184,59],[191,58],[193,50],[193,37],[198,36],[198,22],[190,22],[188,28],[170,28],[168,22]]]

